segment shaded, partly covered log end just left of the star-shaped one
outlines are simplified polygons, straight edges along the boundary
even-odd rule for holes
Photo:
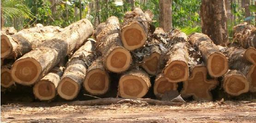
[[[166,92],[170,90],[177,90],[178,84],[171,83],[162,74],[157,75],[154,84],[154,94],[156,97],[161,98]]]

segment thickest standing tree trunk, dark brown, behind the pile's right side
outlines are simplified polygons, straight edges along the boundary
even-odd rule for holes
[[[202,0],[202,33],[207,34],[216,45],[228,41],[226,9],[224,0]]]

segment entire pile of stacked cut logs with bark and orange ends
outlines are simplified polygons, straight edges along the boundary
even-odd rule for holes
[[[143,98],[151,89],[158,99],[180,91],[183,98],[208,101],[216,87],[231,96],[256,92],[254,27],[236,26],[239,45],[223,47],[206,34],[149,29],[152,18],[150,11],[135,8],[126,12],[122,24],[109,17],[95,30],[87,19],[66,28],[5,28],[1,86],[32,85],[40,101],[56,95],[74,100],[85,91],[103,96],[113,84],[118,84],[118,97],[129,99]]]

